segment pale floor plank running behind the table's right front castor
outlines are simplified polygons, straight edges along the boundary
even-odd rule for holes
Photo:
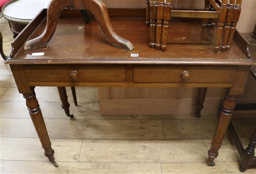
[[[205,162],[211,139],[83,140],[80,162]],[[248,140],[244,141],[248,144]],[[235,147],[224,139],[216,161],[238,161]]]

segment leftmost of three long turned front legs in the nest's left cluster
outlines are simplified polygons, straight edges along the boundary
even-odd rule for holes
[[[157,19],[157,0],[149,0],[150,5],[150,47],[155,47],[155,28]]]

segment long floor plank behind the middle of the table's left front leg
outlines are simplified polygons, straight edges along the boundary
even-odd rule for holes
[[[0,118],[2,137],[38,137],[31,119]],[[162,120],[45,119],[50,138],[163,139]],[[22,125],[22,127],[20,126]]]

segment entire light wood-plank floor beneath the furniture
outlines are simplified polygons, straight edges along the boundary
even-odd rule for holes
[[[4,51],[12,34],[0,20]],[[61,108],[56,87],[37,87],[48,133],[59,164],[47,161],[18,93],[10,68],[0,60],[0,173],[79,174],[239,174],[239,157],[225,137],[216,167],[206,165],[216,115],[195,119],[190,115],[101,116],[97,89],[77,88],[78,107],[67,88],[71,113]],[[234,125],[247,145],[256,125],[253,115],[236,115]],[[242,119],[243,118],[243,119]],[[248,169],[246,173],[255,173]]]

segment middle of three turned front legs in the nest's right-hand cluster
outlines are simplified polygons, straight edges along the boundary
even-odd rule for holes
[[[229,0],[227,20],[224,26],[224,35],[223,35],[222,46],[221,46],[222,52],[226,51],[226,47],[228,44],[231,22],[233,20],[234,13],[235,13],[235,1],[236,0]]]

